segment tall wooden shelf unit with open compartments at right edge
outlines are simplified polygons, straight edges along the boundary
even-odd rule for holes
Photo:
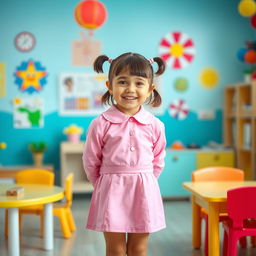
[[[247,180],[256,178],[256,82],[224,90],[224,144],[236,151],[236,166]]]

